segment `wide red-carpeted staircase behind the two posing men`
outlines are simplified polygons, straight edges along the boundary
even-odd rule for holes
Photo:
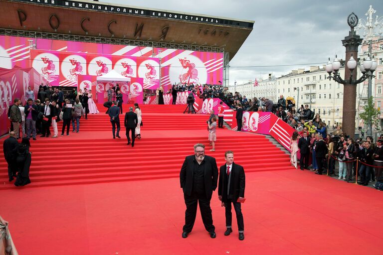
[[[26,187],[178,178],[185,156],[193,154],[193,145],[208,144],[208,115],[183,114],[185,106],[143,105],[143,138],[136,139],[134,148],[126,144],[123,118],[122,139],[112,139],[110,119],[102,105],[98,109],[100,114],[81,120],[80,133],[31,140],[32,183]],[[224,164],[224,152],[233,150],[235,162],[246,172],[291,168],[289,156],[264,135],[219,128],[216,151],[209,148],[205,154],[214,156],[218,167]],[[6,169],[2,160],[0,183],[4,185],[0,189],[15,188],[8,182]]]

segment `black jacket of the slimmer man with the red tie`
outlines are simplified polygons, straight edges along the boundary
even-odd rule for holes
[[[245,170],[241,165],[233,162],[231,167],[231,180],[229,195],[231,201],[237,201],[238,197],[245,197]],[[226,164],[219,167],[218,196],[222,196],[222,202],[227,202],[227,190],[224,188],[227,182]]]

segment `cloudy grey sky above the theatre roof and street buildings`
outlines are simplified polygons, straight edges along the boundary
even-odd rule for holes
[[[345,58],[341,40],[350,30],[347,16],[355,12],[365,19],[370,5],[383,16],[383,0],[100,1],[254,20],[253,31],[230,61],[230,84],[322,66],[336,54]]]

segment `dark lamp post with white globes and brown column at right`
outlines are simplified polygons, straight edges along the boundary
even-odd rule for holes
[[[351,13],[347,22],[350,26],[349,35],[342,40],[343,46],[346,47],[346,67],[345,67],[345,79],[342,79],[339,74],[341,68],[341,62],[335,57],[333,63],[329,62],[326,65],[326,71],[329,74],[329,80],[333,79],[335,82],[344,85],[343,96],[343,131],[347,134],[354,136],[355,133],[355,116],[356,116],[356,98],[357,98],[357,84],[364,82],[369,75],[372,75],[375,69],[373,67],[373,61],[367,58],[363,65],[361,64],[362,77],[357,79],[357,60],[358,59],[358,47],[362,44],[362,39],[356,34],[355,27],[358,24],[358,16],[355,13]]]

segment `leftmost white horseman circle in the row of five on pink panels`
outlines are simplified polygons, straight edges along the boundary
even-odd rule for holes
[[[32,63],[32,67],[36,69],[48,82],[54,81],[59,75],[59,59],[51,53],[42,53],[37,55]]]

